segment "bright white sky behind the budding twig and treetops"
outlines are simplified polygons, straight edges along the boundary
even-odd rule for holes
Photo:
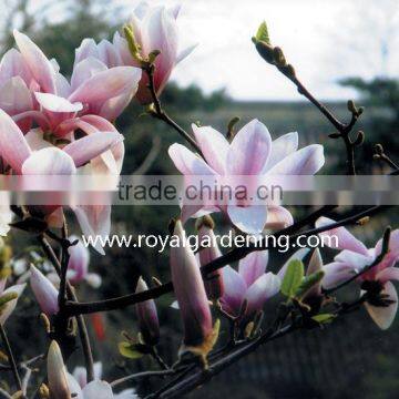
[[[33,0],[42,4],[49,0]],[[129,14],[140,0],[109,0]],[[323,100],[355,95],[337,82],[399,73],[399,2],[397,0],[147,0],[183,4],[178,17],[181,49],[195,51],[174,70],[183,86],[205,92],[225,88],[237,100],[301,100],[293,84],[257,54],[250,38],[267,21],[272,43],[283,48],[297,75]],[[55,18],[62,18],[57,12]]]

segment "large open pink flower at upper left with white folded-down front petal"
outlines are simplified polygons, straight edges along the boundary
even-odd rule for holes
[[[34,110],[19,113],[16,122],[34,120],[43,131],[55,136],[65,136],[81,129],[86,134],[98,130],[98,123],[81,123],[81,116],[103,116],[113,121],[127,105],[121,99],[131,99],[137,90],[141,70],[132,66],[108,69],[92,58],[75,64],[71,83],[59,72],[55,62],[27,35],[14,31],[17,45],[23,64],[29,71],[34,94]]]

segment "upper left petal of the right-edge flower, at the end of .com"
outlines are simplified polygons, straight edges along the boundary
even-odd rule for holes
[[[316,221],[316,227],[324,227],[334,224],[335,221],[328,218],[328,217],[320,217],[318,221]],[[325,239],[325,245],[330,246],[331,248],[336,249],[349,249],[352,252],[357,252],[358,254],[368,256],[369,253],[365,246],[364,243],[361,243],[359,239],[357,239],[349,231],[347,231],[345,227],[337,227],[324,233],[320,233],[320,236],[329,236],[334,237],[336,236],[336,239]]]

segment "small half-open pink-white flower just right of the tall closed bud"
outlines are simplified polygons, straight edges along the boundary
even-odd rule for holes
[[[223,268],[224,294],[221,305],[224,311],[232,317],[250,318],[279,291],[279,277],[270,272],[265,273],[267,263],[268,252],[257,250],[239,260],[238,272],[231,266]]]

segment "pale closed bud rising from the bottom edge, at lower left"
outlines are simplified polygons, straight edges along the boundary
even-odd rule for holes
[[[52,341],[48,354],[48,380],[51,399],[71,399],[66,369],[57,341]]]

